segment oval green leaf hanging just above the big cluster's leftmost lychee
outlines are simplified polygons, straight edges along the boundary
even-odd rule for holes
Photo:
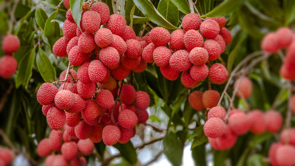
[[[50,63],[50,60],[48,59],[46,53],[41,48],[39,48],[39,51],[37,53],[36,61],[39,73],[41,74],[45,82],[56,80],[56,71]]]

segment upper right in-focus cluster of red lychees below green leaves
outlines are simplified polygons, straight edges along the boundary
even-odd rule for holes
[[[183,17],[183,30],[175,30],[171,35],[165,28],[155,27],[145,35],[148,45],[142,51],[142,59],[155,62],[169,80],[176,80],[182,72],[185,87],[194,87],[207,76],[214,84],[223,84],[227,81],[227,69],[219,63],[209,66],[208,62],[216,60],[232,40],[225,24],[225,17],[207,17],[202,22],[198,14],[190,13]]]

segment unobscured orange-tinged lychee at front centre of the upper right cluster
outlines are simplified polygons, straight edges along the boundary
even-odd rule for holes
[[[189,53],[189,59],[192,64],[194,65],[203,65],[206,64],[208,61],[209,55],[205,48],[202,47],[195,47]]]

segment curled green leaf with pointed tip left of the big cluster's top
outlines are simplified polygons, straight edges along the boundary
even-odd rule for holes
[[[48,36],[59,36],[60,28],[58,22],[54,21],[56,19],[57,10],[50,14],[48,17],[45,26],[44,26],[44,37]]]

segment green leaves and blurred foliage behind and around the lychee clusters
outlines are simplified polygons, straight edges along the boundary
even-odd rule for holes
[[[71,0],[71,3],[76,1],[80,0]],[[136,35],[140,35],[143,28],[144,34],[151,30],[145,26],[146,22],[172,32],[180,26],[183,16],[190,13],[186,0],[102,1],[109,6],[111,14],[117,13],[120,5],[120,14],[125,17],[127,25],[133,27]],[[14,14],[12,33],[21,41],[21,47],[13,55],[18,63],[17,73],[11,79],[0,79],[0,128],[18,149],[40,164],[43,159],[36,154],[37,142],[48,136],[49,127],[41,105],[36,100],[36,92],[43,82],[57,80],[60,72],[68,65],[67,57],[56,57],[52,53],[53,44],[63,35],[61,29],[66,19],[65,6],[61,4],[56,9],[59,3],[59,0],[0,0],[0,38],[7,33],[10,15]],[[11,13],[14,5],[17,5],[16,10]],[[282,26],[294,28],[294,0],[197,0],[196,8],[204,17],[226,17],[226,27],[230,29],[233,40],[216,62],[226,65],[229,73],[245,56],[260,50],[260,41],[264,34]],[[0,56],[3,54],[0,50]],[[280,66],[281,58],[275,54],[249,71],[249,77],[254,83],[253,94],[247,100],[250,109],[271,109],[275,98],[280,94],[275,109],[286,117],[288,92],[278,72]],[[187,96],[192,90],[207,90],[208,78],[197,87],[188,89],[183,87],[180,77],[175,81],[165,79],[159,68],[153,64],[148,64],[148,68],[142,73],[133,73],[127,80],[130,77],[135,89],[150,94],[148,122],[163,128],[165,136],[160,147],[163,146],[164,154],[172,165],[181,165],[183,148],[188,144],[191,144],[195,165],[208,164],[209,156],[210,163],[213,161],[215,166],[225,163],[238,166],[268,165],[263,158],[267,156],[270,144],[278,138],[276,134],[245,134],[227,151],[215,151],[206,146],[208,141],[202,130],[202,124],[206,121],[205,110],[193,110]],[[221,93],[224,86],[225,84],[212,84],[212,89]],[[229,92],[232,92],[232,86]],[[228,104],[225,97],[222,105],[226,107]],[[236,99],[234,104],[237,108],[245,109],[242,100]],[[295,117],[292,117],[292,124],[294,122]],[[137,130],[142,134],[145,127]],[[150,132],[149,138],[159,133],[160,131]],[[141,135],[140,138],[143,140],[145,136]],[[0,141],[7,146],[3,139]],[[114,146],[122,154],[121,164],[137,163],[133,144],[118,143]],[[105,162],[104,156],[109,154],[105,148],[102,143],[96,144],[101,162]],[[91,155],[89,163],[95,161],[94,159],[95,156]]]

